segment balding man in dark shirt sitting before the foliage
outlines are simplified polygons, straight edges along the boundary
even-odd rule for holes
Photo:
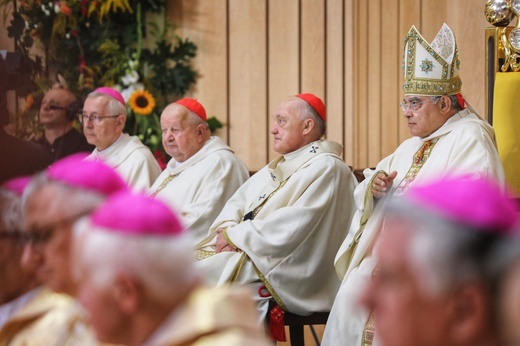
[[[94,150],[85,136],[74,127],[82,102],[70,90],[55,85],[44,95],[40,106],[43,136],[37,140],[45,150],[49,164],[65,156]]]

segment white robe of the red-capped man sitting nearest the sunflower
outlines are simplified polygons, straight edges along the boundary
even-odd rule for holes
[[[180,216],[195,245],[207,236],[227,200],[248,178],[247,167],[231,148],[211,137],[186,161],[171,159],[149,192]]]

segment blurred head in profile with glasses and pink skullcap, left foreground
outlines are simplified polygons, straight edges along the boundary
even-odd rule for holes
[[[36,175],[24,192],[22,261],[36,268],[50,289],[74,295],[70,275],[70,239],[76,219],[92,212],[108,196],[126,190],[120,175],[103,162],[76,154]]]

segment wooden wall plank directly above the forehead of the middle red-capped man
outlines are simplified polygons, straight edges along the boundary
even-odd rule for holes
[[[293,0],[268,1],[268,109],[270,116],[280,102],[300,88],[300,6]],[[269,139],[269,161],[280,154]]]

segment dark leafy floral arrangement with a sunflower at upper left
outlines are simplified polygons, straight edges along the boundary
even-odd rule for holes
[[[160,111],[197,77],[191,66],[196,45],[174,35],[168,23],[162,29],[144,23],[164,6],[164,0],[0,0],[4,18],[12,13],[8,36],[26,57],[24,70],[33,82],[16,90],[26,100],[16,119],[18,135],[38,131],[39,101],[52,77],[60,76],[83,97],[99,86],[119,89],[128,105],[125,132],[163,157]],[[222,126],[215,120],[213,130]]]

